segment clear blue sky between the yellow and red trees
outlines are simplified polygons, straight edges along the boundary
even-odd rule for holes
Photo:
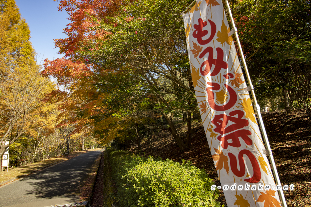
[[[45,58],[53,60],[62,58],[54,49],[54,40],[66,38],[63,29],[66,28],[66,11],[58,11],[58,2],[53,0],[15,0],[20,9],[22,18],[26,20],[30,28],[31,43],[38,53],[38,63],[43,63]],[[43,59],[42,59],[43,58]]]

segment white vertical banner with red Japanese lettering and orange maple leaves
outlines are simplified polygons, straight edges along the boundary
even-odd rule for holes
[[[280,206],[221,0],[183,14],[193,86],[228,206]]]

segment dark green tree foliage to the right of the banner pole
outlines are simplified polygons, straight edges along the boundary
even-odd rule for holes
[[[287,110],[311,110],[311,2],[235,4],[239,36],[259,99],[282,97]]]

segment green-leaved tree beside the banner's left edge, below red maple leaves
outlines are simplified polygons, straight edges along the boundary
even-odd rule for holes
[[[197,109],[180,18],[185,3],[129,3],[117,15],[107,17],[93,28],[95,33],[104,30],[109,35],[92,40],[80,51],[103,68],[135,74],[146,87],[145,94],[148,94],[153,110],[160,111],[167,120],[169,131],[181,151],[187,150],[188,146],[175,128],[172,113],[182,110],[190,111],[191,115],[191,109]]]

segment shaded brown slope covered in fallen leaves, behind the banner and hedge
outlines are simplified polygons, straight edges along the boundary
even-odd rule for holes
[[[283,111],[262,114],[262,117],[281,183],[295,185],[294,191],[285,191],[287,205],[311,206],[311,114],[302,111],[286,114]],[[181,136],[186,137],[186,123],[180,122],[177,127]],[[204,168],[216,185],[220,185],[202,124],[193,122],[192,133],[192,148],[188,152],[180,153],[168,131],[158,134],[151,153],[146,143],[142,144],[142,151],[146,156],[177,162],[190,160],[196,167]],[[226,204],[222,192],[219,200]]]

